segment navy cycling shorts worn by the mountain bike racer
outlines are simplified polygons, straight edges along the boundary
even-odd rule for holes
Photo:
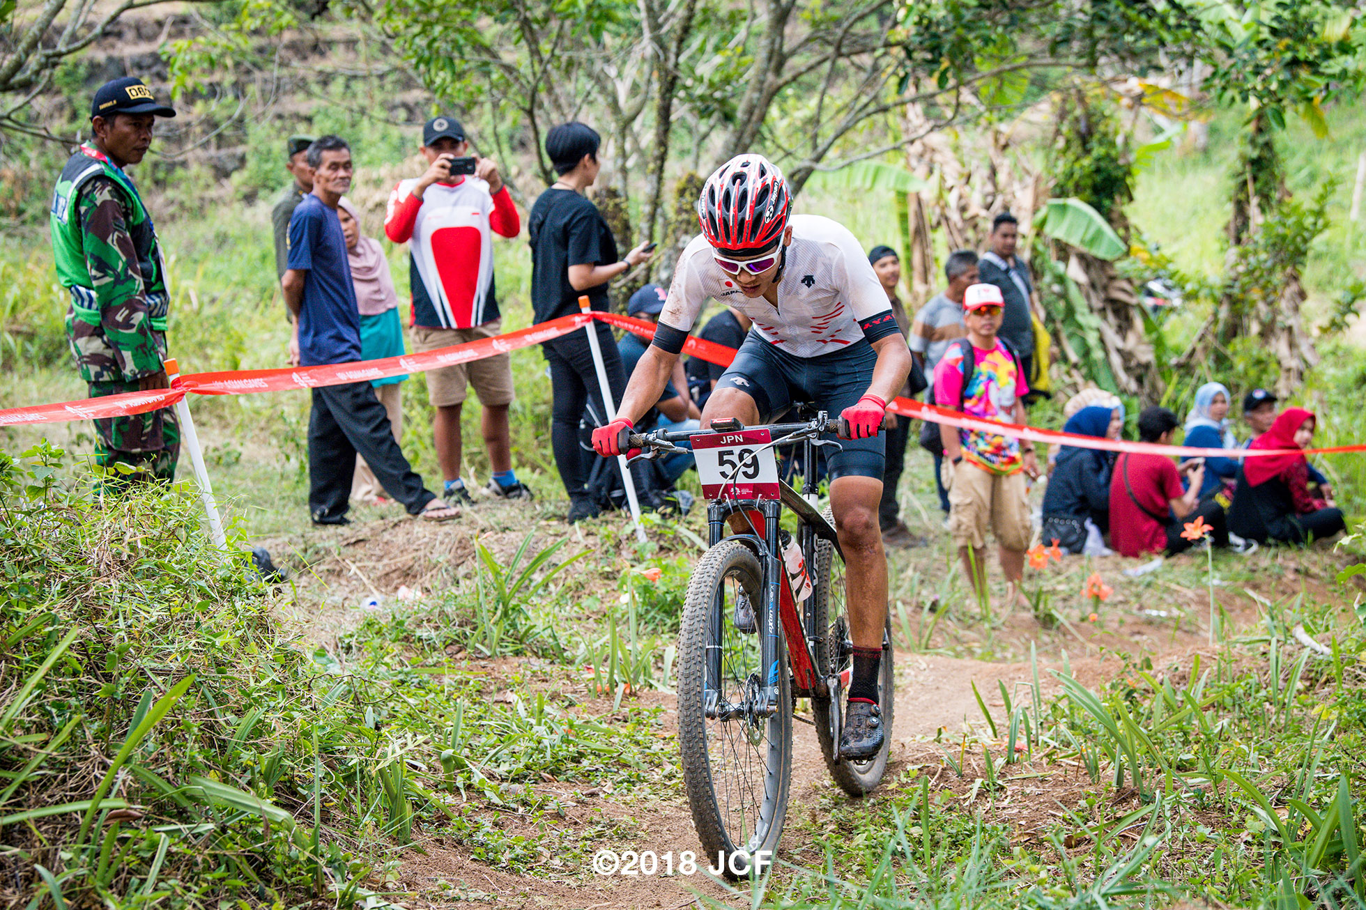
[[[758,406],[759,421],[773,424],[798,402],[807,402],[831,417],[858,403],[873,381],[877,353],[866,339],[821,357],[794,357],[750,332],[735,359],[716,381],[716,388],[735,388]],[[723,414],[724,417],[724,414]],[[822,448],[831,480],[876,477],[882,480],[885,440],[835,439],[843,450]]]

